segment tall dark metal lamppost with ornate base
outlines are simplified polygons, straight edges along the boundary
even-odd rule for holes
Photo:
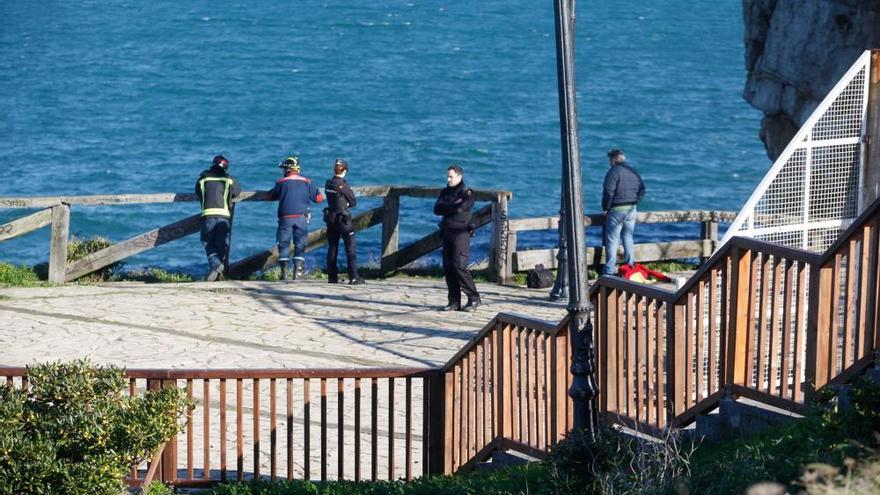
[[[564,212],[564,221],[560,222],[559,228],[565,240],[571,322],[568,333],[571,339],[571,372],[574,375],[568,393],[574,401],[574,427],[587,428],[592,434],[597,424],[595,399],[598,386],[593,374],[593,308],[587,292],[589,282],[574,84],[574,0],[555,0],[555,12]]]

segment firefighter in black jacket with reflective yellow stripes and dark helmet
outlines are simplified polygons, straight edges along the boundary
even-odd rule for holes
[[[202,246],[211,268],[206,278],[209,282],[223,274],[232,232],[232,198],[241,194],[241,186],[227,173],[228,168],[229,160],[217,155],[211,168],[196,181],[196,195],[202,208]]]

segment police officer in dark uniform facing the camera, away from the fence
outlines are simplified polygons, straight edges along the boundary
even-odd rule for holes
[[[470,256],[470,236],[474,232],[474,193],[464,185],[464,171],[458,165],[446,170],[446,186],[434,204],[434,214],[440,220],[443,238],[443,272],[449,289],[449,304],[443,311],[473,311],[482,304],[474,279],[467,269]],[[461,306],[461,292],[468,302]]]

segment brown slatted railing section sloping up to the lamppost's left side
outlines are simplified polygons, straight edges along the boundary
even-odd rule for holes
[[[434,382],[444,413],[432,421],[442,450],[432,465],[472,469],[494,450],[543,457],[571,428],[568,325],[498,314],[442,369]]]

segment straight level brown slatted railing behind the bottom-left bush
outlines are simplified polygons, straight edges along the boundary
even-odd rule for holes
[[[128,393],[178,387],[196,404],[161,456],[132,467],[181,487],[253,478],[411,479],[427,474],[424,393],[438,370],[127,370]],[[26,368],[0,368],[27,387]],[[442,467],[435,468],[435,471]]]

